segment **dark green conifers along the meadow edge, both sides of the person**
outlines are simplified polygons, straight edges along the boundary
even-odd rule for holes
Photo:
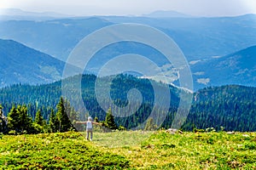
[[[67,99],[61,97],[56,105],[56,111],[51,108],[49,120],[44,119],[39,109],[34,119],[28,114],[26,105],[13,105],[8,116],[3,115],[3,106],[0,105],[0,133],[63,133],[77,131],[74,127],[76,121],[80,121],[79,112],[75,111]],[[72,122],[73,121],[73,122]],[[95,118],[99,122],[98,118]],[[108,129],[124,129],[117,127],[111,108],[107,111],[105,121],[101,121]]]

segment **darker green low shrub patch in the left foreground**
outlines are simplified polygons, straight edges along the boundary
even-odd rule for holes
[[[4,136],[0,140],[3,169],[122,169],[124,156],[98,150],[80,133]]]

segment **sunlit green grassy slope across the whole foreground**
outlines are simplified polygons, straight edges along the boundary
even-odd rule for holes
[[[245,135],[246,134],[246,135]],[[3,136],[0,167],[256,169],[256,133],[116,132]]]

